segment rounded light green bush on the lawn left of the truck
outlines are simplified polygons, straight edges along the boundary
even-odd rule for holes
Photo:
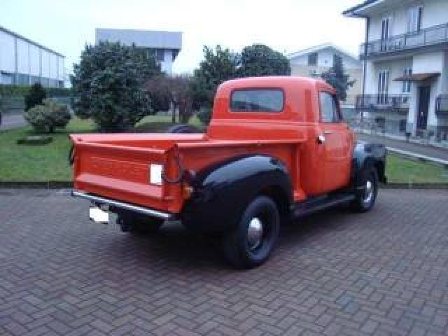
[[[23,113],[25,120],[36,132],[55,132],[55,128],[64,128],[71,119],[66,105],[52,99],[45,99],[43,105],[36,105]]]

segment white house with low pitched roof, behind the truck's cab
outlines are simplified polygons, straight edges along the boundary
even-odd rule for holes
[[[333,66],[335,57],[342,58],[342,64],[349,80],[356,80],[353,87],[347,91],[347,99],[343,104],[353,106],[356,95],[361,92],[363,80],[363,64],[356,56],[342,50],[336,45],[325,43],[311,48],[293,52],[287,55],[291,67],[291,75],[304,77],[320,77]]]

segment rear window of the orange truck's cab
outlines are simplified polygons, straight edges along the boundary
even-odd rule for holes
[[[284,93],[280,89],[234,90],[230,97],[232,112],[281,112]]]

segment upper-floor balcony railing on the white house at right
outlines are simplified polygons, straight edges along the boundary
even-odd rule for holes
[[[448,23],[421,29],[414,33],[392,36],[387,40],[377,40],[367,43],[367,58],[384,55],[389,52],[411,50],[428,45],[448,42]],[[365,43],[360,45],[359,55],[365,59]]]

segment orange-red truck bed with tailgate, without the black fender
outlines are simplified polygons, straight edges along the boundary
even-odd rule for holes
[[[174,179],[179,155],[186,169],[197,171],[230,157],[275,155],[295,169],[300,139],[217,140],[206,134],[72,134],[75,190],[141,207],[178,213],[183,207],[182,183],[149,182],[151,164],[164,166]],[[286,146],[285,146],[286,145]],[[289,145],[289,146],[288,146]],[[295,174],[292,174],[295,176]]]

